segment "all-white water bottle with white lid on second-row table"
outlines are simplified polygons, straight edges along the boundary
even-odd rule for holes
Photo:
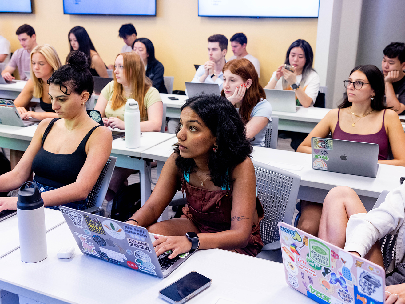
[[[139,148],[141,146],[141,114],[135,99],[128,99],[124,112],[125,146]]]

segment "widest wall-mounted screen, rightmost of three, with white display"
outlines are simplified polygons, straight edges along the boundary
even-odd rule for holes
[[[318,18],[320,0],[198,0],[198,16]]]

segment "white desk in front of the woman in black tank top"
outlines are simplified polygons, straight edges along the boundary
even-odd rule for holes
[[[64,223],[65,219],[59,210],[45,208],[45,229],[51,229]],[[0,222],[0,259],[20,246],[17,215]]]

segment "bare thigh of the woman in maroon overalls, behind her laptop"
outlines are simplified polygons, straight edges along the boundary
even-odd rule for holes
[[[187,232],[194,231],[200,233],[198,228],[189,218],[171,218],[170,220],[154,223],[146,228],[151,233],[165,236],[185,235]]]

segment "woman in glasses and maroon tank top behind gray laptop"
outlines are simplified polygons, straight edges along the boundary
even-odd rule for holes
[[[311,137],[379,144],[378,163],[405,166],[405,133],[398,115],[384,105],[384,76],[370,64],[356,66],[344,81],[347,92],[338,109],[332,109],[313,128],[297,152],[311,153]],[[388,159],[391,148],[392,159]],[[367,156],[364,156],[367,157]],[[302,201],[298,228],[318,235],[322,204]]]

